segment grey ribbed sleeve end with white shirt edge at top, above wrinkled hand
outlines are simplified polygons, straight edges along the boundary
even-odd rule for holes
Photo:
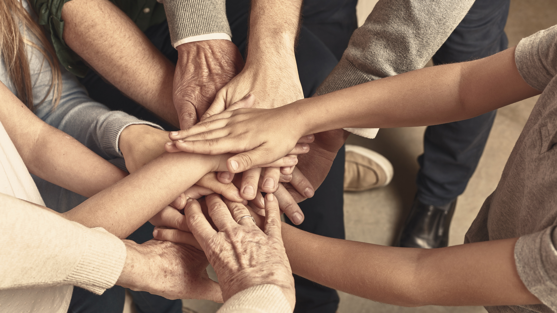
[[[184,38],[210,33],[226,33],[232,37],[225,0],[163,0],[163,3],[174,47]]]

